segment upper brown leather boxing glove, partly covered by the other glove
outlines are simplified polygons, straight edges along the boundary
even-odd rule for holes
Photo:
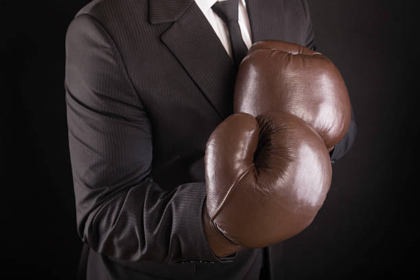
[[[323,54],[279,40],[254,43],[235,81],[235,113],[253,116],[271,110],[303,119],[328,150],[349,128],[351,104],[337,67]]]

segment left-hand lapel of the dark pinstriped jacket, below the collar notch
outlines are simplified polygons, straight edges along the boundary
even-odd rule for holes
[[[236,69],[209,21],[193,1],[161,40],[225,119],[233,112]]]

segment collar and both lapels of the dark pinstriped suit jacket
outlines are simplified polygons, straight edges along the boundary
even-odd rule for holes
[[[279,38],[283,16],[276,0],[246,0],[253,43]],[[222,119],[233,113],[237,70],[209,21],[194,0],[149,0],[152,24],[174,22],[161,34],[185,71]]]

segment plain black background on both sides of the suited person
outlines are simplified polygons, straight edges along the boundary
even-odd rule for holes
[[[75,279],[64,43],[88,2],[0,2],[1,277]],[[310,0],[317,48],[347,82],[358,136],[312,225],[285,242],[287,279],[417,268],[419,32],[410,3]]]

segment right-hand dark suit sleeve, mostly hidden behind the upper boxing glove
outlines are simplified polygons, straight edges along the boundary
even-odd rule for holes
[[[315,35],[314,35],[314,26],[312,24],[312,19],[310,16],[309,5],[307,0],[302,0],[303,5],[303,12],[305,13],[306,19],[306,32],[305,32],[305,47],[310,48],[312,50],[316,50],[315,45]],[[347,129],[347,132],[344,137],[334,146],[334,149],[329,152],[329,157],[331,159],[331,163],[336,163],[339,159],[349,152],[351,146],[355,141],[355,137],[357,134],[357,126],[355,124],[354,112],[353,108],[351,108],[351,121],[350,126]]]

